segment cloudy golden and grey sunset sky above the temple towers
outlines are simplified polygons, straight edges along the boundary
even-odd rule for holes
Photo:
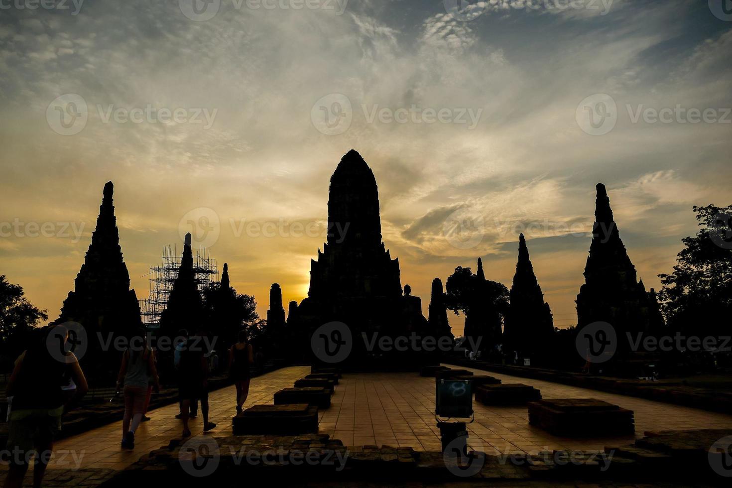
[[[193,225],[264,315],[356,149],[425,313],[479,256],[510,286],[523,232],[569,326],[597,182],[649,287],[732,203],[731,52],[714,0],[3,0],[0,274],[56,318],[112,180],[139,298]]]

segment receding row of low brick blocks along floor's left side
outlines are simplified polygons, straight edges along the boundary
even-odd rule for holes
[[[318,432],[318,409],[330,407],[337,369],[311,369],[293,388],[275,393],[274,405],[254,405],[232,418],[234,435],[297,435]]]

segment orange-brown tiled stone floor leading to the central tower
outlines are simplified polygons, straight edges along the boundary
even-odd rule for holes
[[[309,367],[288,367],[253,378],[245,407],[272,403],[280,388],[292,386],[295,380],[310,372]],[[597,398],[635,411],[636,436],[654,429],[732,428],[732,416],[694,408],[668,405],[646,399],[624,397],[601,391],[575,388],[546,381],[489,374],[504,383],[525,383],[542,391],[545,398]],[[434,378],[421,378],[417,373],[346,374],[336,386],[332,406],[320,413],[320,431],[343,440],[346,446],[388,444],[411,446],[416,450],[438,451],[439,431],[433,415]],[[218,426],[212,435],[231,433],[234,414],[234,387],[212,391],[209,395],[212,421]],[[474,403],[475,422],[468,424],[469,444],[489,454],[498,452],[535,452],[545,449],[602,449],[609,444],[627,444],[632,437],[602,439],[557,438],[528,424],[525,407],[486,407]],[[179,437],[181,422],[173,418],[177,405],[153,410],[152,420],[141,424],[134,451],[119,447],[121,421],[91,430],[56,443],[56,465],[50,468],[113,468],[122,469],[142,454],[168,444]],[[191,421],[193,435],[201,434],[203,421]],[[61,455],[65,454],[61,464]],[[80,463],[76,459],[83,454]]]

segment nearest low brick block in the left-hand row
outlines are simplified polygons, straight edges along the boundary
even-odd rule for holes
[[[231,419],[234,435],[295,435],[318,432],[318,408],[307,403],[254,405]]]

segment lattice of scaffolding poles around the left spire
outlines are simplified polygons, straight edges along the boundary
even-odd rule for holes
[[[142,320],[148,329],[160,327],[160,315],[168,304],[168,297],[173,290],[173,283],[178,277],[178,270],[181,266],[181,253],[176,247],[163,247],[163,260],[159,266],[150,266],[150,292],[146,299],[140,300]],[[202,293],[203,288],[212,281],[217,281],[219,271],[216,267],[216,260],[212,259],[209,252],[199,247],[193,255],[193,271],[195,271],[195,284],[198,292]]]

